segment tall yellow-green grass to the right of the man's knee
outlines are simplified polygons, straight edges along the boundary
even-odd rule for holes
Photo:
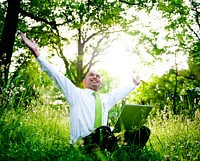
[[[200,117],[158,113],[150,121],[152,137],[149,144],[161,156],[171,160],[200,160]]]

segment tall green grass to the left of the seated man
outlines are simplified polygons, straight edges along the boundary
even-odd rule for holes
[[[0,159],[54,159],[69,144],[69,120],[63,110],[4,111],[1,117]]]

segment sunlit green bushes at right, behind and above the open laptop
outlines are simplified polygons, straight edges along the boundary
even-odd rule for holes
[[[161,77],[152,77],[149,82],[143,82],[141,86],[133,92],[130,101],[139,104],[151,104],[155,109],[164,110],[170,106],[169,112],[176,114],[185,114],[193,117],[195,111],[199,108],[199,83],[198,80],[188,78],[188,71],[178,71],[177,90],[174,98],[175,89],[175,70],[171,69]],[[178,105],[173,109],[176,100]]]

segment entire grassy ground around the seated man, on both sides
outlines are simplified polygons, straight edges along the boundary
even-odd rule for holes
[[[63,109],[5,110],[0,118],[0,160],[200,160],[199,118],[159,113],[148,121],[151,137],[142,152],[123,147],[113,153],[69,145],[69,119]]]

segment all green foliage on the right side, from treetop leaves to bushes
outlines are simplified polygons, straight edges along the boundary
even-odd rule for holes
[[[144,46],[141,47],[142,51],[145,50],[156,59],[160,58],[159,55],[165,54],[170,54],[175,59],[178,54],[188,55],[189,65],[188,70],[180,71],[175,60],[175,67],[168,74],[160,78],[154,77],[142,85],[136,96],[137,103],[152,103],[160,109],[170,103],[174,114],[191,112],[190,117],[199,108],[199,6],[196,0],[158,0],[152,10],[149,10],[149,14],[155,9],[167,22],[164,33],[150,26],[151,22],[147,27],[144,26],[149,29],[147,34],[145,30],[140,29],[130,32],[132,35],[140,35],[138,48],[140,45]]]

